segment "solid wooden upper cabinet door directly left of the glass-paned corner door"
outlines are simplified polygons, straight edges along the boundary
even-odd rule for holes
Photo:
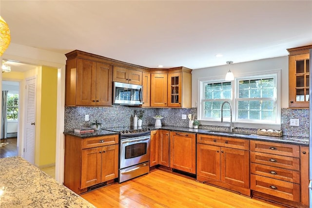
[[[167,107],[167,74],[151,74],[151,107]]]

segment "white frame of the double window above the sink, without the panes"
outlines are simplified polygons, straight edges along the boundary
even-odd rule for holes
[[[238,120],[238,107],[236,98],[238,97],[237,90],[238,90],[238,80],[242,79],[257,79],[263,78],[265,76],[276,76],[276,101],[275,101],[275,122],[268,123],[267,120],[264,122],[251,122],[250,120]],[[212,77],[204,77],[198,78],[198,98],[197,98],[197,118],[202,125],[216,125],[216,126],[229,126],[227,121],[230,119],[225,118],[223,123],[221,123],[221,119],[204,119],[203,118],[203,102],[202,98],[204,97],[204,82],[226,82],[224,76],[212,76]],[[235,74],[235,78],[232,81],[232,111],[233,111],[233,123],[235,127],[241,128],[263,128],[263,129],[280,129],[281,128],[281,69],[277,70],[268,70],[268,71],[261,71],[261,72],[253,72],[253,73],[241,73]]]

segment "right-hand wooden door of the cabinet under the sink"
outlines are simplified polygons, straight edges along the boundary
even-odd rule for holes
[[[221,181],[249,189],[249,151],[221,147]]]

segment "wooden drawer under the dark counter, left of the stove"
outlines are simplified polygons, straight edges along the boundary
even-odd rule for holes
[[[118,134],[82,139],[82,149],[118,144]]]

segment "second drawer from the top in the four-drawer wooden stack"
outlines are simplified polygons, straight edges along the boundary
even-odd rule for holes
[[[300,170],[299,158],[267,154],[261,152],[250,152],[250,162],[278,168]]]

